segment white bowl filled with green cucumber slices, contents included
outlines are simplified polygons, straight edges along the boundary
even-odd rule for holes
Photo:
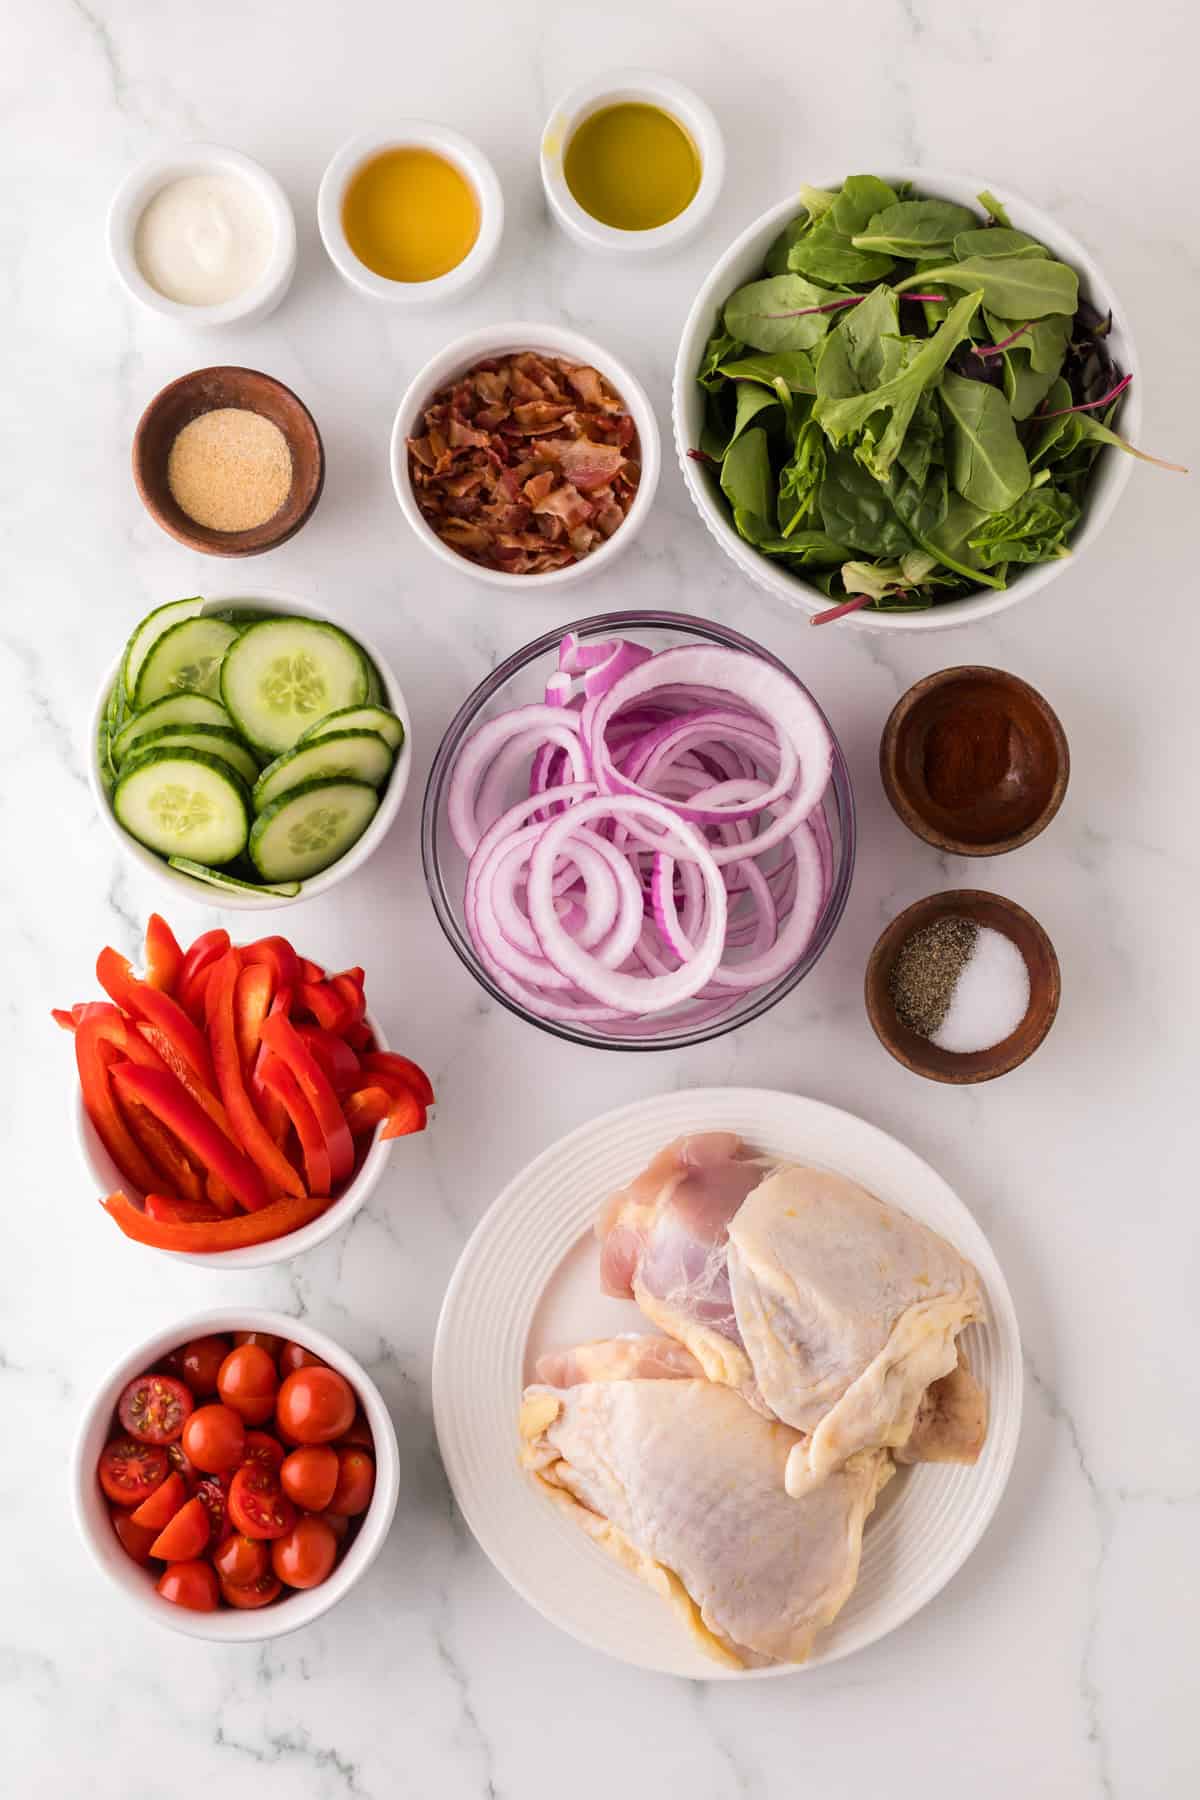
[[[176,599],[101,682],[97,810],[133,862],[201,905],[293,905],[387,835],[412,767],[408,706],[360,632],[290,594]]]

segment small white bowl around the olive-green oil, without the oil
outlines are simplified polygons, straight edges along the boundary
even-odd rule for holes
[[[653,230],[619,230],[592,218],[579,205],[563,173],[563,157],[570,139],[585,119],[604,106],[657,106],[684,126],[700,155],[700,187],[684,211]],[[542,185],[554,221],[585,250],[608,256],[658,256],[678,250],[693,238],[716,205],[725,180],[725,139],[712,112],[698,94],[669,76],[655,76],[646,68],[619,68],[615,74],[594,76],[579,83],[552,110],[542,131]]]

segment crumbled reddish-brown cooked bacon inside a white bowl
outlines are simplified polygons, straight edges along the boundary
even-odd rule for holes
[[[444,544],[486,569],[565,569],[633,504],[637,430],[587,364],[489,356],[444,387],[421,423],[408,439],[417,506]]]

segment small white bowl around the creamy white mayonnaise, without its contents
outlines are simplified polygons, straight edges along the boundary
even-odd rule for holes
[[[259,196],[275,229],[270,261],[259,279],[245,293],[236,293],[232,301],[221,301],[219,306],[185,306],[182,301],[169,301],[166,293],[151,288],[133,254],[137,221],[142,212],[167,182],[178,182],[185,175],[239,176]],[[237,149],[225,149],[221,144],[182,144],[178,149],[148,157],[126,175],[108,209],[108,254],[133,299],[162,319],[173,319],[182,326],[254,324],[273,313],[291,286],[295,216],[275,176],[261,164],[252,162],[250,157],[243,157]]]

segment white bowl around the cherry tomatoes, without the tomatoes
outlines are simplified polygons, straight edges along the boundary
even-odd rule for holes
[[[363,1514],[354,1543],[336,1564],[320,1588],[304,1588],[281,1595],[273,1606],[259,1611],[237,1611],[219,1607],[216,1613],[189,1613],[187,1607],[173,1606],[155,1593],[155,1577],[149,1570],[139,1568],[121,1548],[112,1528],[108,1501],[95,1476],[95,1465],[108,1442],[112,1417],[121,1397],[121,1390],[135,1375],[146,1373],[155,1363],[189,1343],[193,1337],[207,1337],[210,1332],[273,1332],[304,1345],[318,1355],[329,1368],[336,1368],[353,1386],[374,1438],[374,1494]],[[167,1631],[180,1631],[185,1638],[209,1638],[214,1643],[257,1643],[263,1638],[282,1638],[300,1625],[311,1625],[315,1618],[336,1606],[344,1595],[360,1580],[387,1537],[396,1501],[399,1499],[399,1449],[396,1427],[392,1426],[383,1395],[367,1375],[365,1368],[354,1361],[333,1337],[326,1337],[306,1319],[288,1318],[284,1312],[264,1312],[261,1307],[219,1307],[194,1312],[176,1321],[166,1330],[155,1332],[144,1343],[126,1352],[108,1372],[95,1395],[86,1406],[70,1465],[70,1485],[79,1535],[88,1546],[92,1559],[103,1573],[139,1607],[144,1618]]]

